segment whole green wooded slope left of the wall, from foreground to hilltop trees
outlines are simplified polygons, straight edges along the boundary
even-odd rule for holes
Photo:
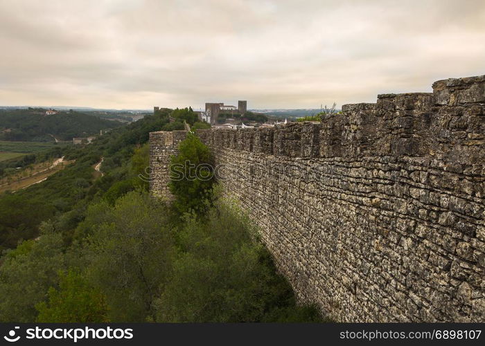
[[[59,147],[51,154],[73,164],[0,195],[1,322],[322,321],[297,304],[217,181],[173,181],[172,203],[150,196],[148,134],[184,120],[208,126],[191,109],[164,109]],[[210,162],[211,152],[188,136],[172,160]]]

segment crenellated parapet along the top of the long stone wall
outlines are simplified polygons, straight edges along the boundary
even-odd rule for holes
[[[477,90],[466,85],[460,92]],[[436,104],[435,93],[382,94],[376,104],[344,104],[342,113],[317,123],[198,133],[218,147],[290,157],[407,155],[466,164],[485,161],[484,114],[485,104]]]

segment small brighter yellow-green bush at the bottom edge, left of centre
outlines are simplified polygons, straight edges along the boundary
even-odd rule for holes
[[[37,322],[108,322],[106,297],[76,271],[60,273],[59,289],[48,289],[48,301],[39,302]]]

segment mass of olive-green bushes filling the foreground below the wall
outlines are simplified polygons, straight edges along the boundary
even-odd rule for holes
[[[91,204],[67,248],[53,224],[42,230],[3,257],[0,321],[319,321],[297,307],[249,218],[227,201],[181,220],[129,192]]]

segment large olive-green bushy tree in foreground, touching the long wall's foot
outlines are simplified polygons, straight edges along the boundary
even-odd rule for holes
[[[192,216],[179,231],[182,253],[157,300],[158,322],[318,321],[297,307],[288,282],[231,203],[216,203],[206,221]]]

